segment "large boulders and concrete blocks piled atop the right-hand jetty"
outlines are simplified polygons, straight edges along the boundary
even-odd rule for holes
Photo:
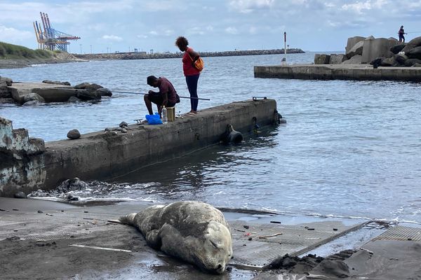
[[[348,38],[345,54],[316,54],[314,64],[421,66],[421,37],[401,43],[396,38],[354,36]]]

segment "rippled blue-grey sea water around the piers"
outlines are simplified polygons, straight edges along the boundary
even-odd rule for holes
[[[253,77],[254,65],[280,64],[283,55],[205,57],[199,110],[266,96],[288,123],[248,136],[239,146],[213,146],[113,181],[91,182],[84,200],[202,200],[282,214],[373,218],[421,223],[421,85],[392,81],[286,80]],[[312,62],[314,53],[288,55]],[[14,81],[98,83],[147,92],[149,75],[165,76],[188,96],[180,59],[49,64],[0,69]],[[182,99],[181,113],[189,111]],[[135,123],[147,113],[138,94],[98,103],[1,105],[0,116],[32,137],[65,139]],[[163,172],[164,171],[164,172]]]

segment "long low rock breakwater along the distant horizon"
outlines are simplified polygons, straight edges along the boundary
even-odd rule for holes
[[[299,48],[288,48],[287,53],[304,53]],[[274,50],[230,50],[225,52],[200,52],[201,57],[227,57],[227,56],[241,56],[241,55],[278,55],[283,54],[283,49]],[[163,59],[163,58],[180,58],[182,52],[163,52],[150,53],[146,52],[115,52],[115,53],[98,53],[75,55],[81,59],[89,60],[107,60],[107,59]]]

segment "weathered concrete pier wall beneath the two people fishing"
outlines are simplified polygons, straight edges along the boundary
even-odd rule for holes
[[[45,153],[32,158],[29,164],[22,162],[20,169],[14,165],[0,167],[0,196],[13,195],[18,188],[13,181],[22,184],[25,172],[36,174],[38,180],[22,184],[20,190],[25,193],[55,188],[75,176],[82,180],[112,179],[216,144],[229,124],[239,132],[252,131],[253,118],[260,126],[270,125],[277,117],[275,111],[272,99],[234,102],[166,125],[130,125],[128,133],[95,132],[76,140],[48,142]]]

